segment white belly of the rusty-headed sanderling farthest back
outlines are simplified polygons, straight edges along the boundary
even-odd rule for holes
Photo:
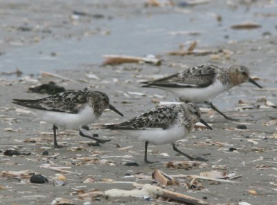
[[[220,81],[215,81],[214,84],[206,88],[163,88],[163,90],[172,92],[173,95],[179,97],[182,101],[192,101],[195,103],[211,101],[211,99],[228,89]]]

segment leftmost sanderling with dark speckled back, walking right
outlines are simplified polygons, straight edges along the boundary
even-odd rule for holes
[[[103,110],[109,108],[123,116],[114,106],[109,104],[109,97],[104,92],[79,90],[60,92],[41,99],[13,99],[13,104],[34,108],[42,113],[42,119],[53,124],[54,146],[57,145],[56,129],[79,128],[82,137],[94,139],[100,143],[109,140],[98,139],[82,133],[81,126],[91,124],[102,115]]]

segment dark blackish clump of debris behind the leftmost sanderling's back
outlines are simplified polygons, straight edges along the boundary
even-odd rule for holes
[[[55,82],[49,81],[48,84],[42,84],[40,86],[35,86],[33,88],[31,87],[29,88],[29,91],[48,95],[55,95],[66,90],[62,86],[57,86]]]

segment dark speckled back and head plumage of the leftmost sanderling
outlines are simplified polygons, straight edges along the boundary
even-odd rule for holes
[[[12,103],[38,110],[77,114],[85,104],[99,116],[109,106],[109,98],[104,92],[79,90],[60,92],[41,99],[13,99]]]

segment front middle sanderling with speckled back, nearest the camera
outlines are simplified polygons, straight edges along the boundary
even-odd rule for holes
[[[126,135],[137,137],[139,141],[145,141],[144,161],[146,163],[150,163],[147,159],[149,143],[172,143],[173,150],[185,155],[188,159],[206,161],[203,157],[196,158],[181,152],[174,144],[175,141],[188,135],[197,121],[201,121],[202,124],[212,129],[201,119],[200,110],[195,104],[171,104],[149,110],[129,121],[124,121],[120,124],[103,125],[101,128],[118,130]]]

